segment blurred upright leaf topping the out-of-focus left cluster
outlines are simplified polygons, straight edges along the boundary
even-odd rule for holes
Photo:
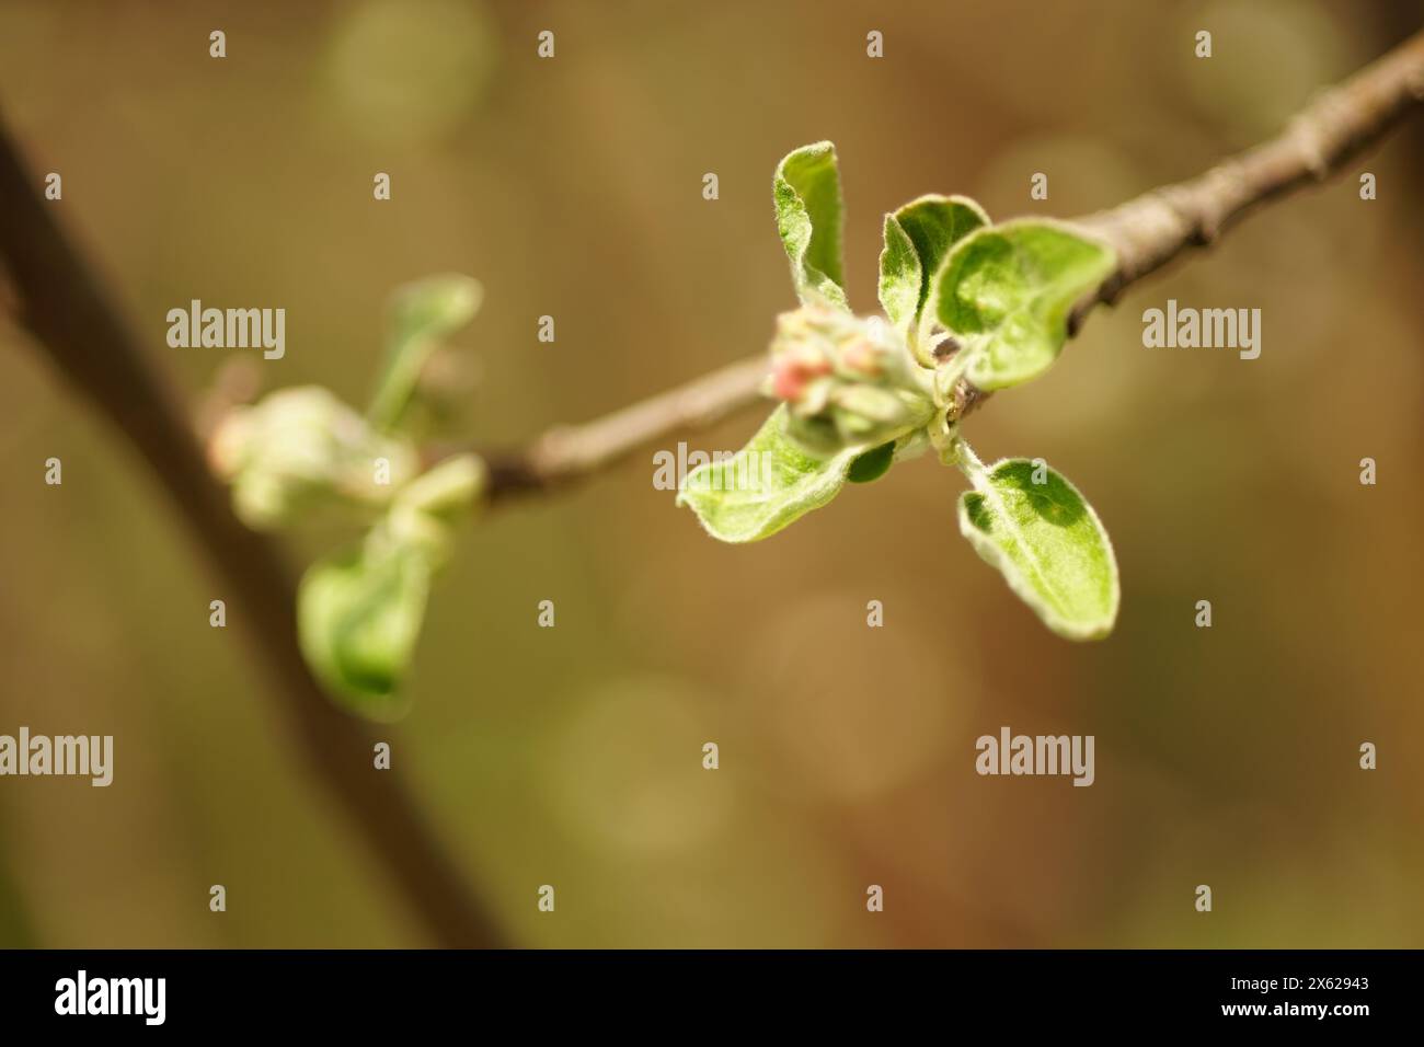
[[[390,303],[386,363],[367,410],[377,430],[399,427],[430,355],[474,318],[483,298],[480,282],[459,274],[427,276],[396,291]]]

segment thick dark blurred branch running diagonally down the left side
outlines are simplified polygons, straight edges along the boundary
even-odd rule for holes
[[[276,547],[244,527],[208,473],[184,399],[142,352],[38,195],[37,179],[0,124],[0,258],[19,319],[60,375],[118,427],[151,467],[206,554],[219,594],[268,672],[266,694],[286,717],[306,766],[328,786],[433,940],[498,946],[503,936],[441,850],[394,769],[373,768],[372,735],[337,711],[296,645],[296,594]],[[206,610],[202,611],[206,614]],[[273,856],[283,859],[286,856]]]

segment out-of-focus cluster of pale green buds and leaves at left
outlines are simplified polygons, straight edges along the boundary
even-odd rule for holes
[[[394,293],[386,362],[365,416],[328,389],[281,389],[229,412],[209,443],[249,527],[325,516],[365,528],[360,541],[308,568],[296,618],[313,675],[372,719],[406,708],[402,685],[431,580],[484,490],[486,467],[474,454],[426,467],[417,452],[430,423],[422,372],[480,298],[480,285],[457,275]]]

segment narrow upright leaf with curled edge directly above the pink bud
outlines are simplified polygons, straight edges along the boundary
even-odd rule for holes
[[[802,302],[846,305],[842,264],[840,170],[830,142],[802,145],[776,165],[772,179],[776,229],[792,259],[792,279]]]

